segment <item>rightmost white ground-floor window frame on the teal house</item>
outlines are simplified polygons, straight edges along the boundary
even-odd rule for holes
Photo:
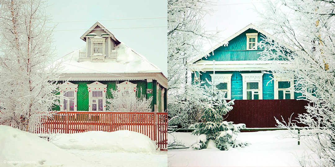
[[[279,99],[278,91],[283,90],[284,91],[284,99],[285,99],[285,92],[290,91],[290,99],[294,99],[294,79],[292,75],[278,75],[273,74],[274,79],[274,99]],[[279,81],[289,81],[290,87],[287,89],[279,89],[278,88],[278,82]]]

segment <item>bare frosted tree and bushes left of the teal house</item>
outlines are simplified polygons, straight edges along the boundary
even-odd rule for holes
[[[204,104],[203,91],[187,85],[187,65],[194,56],[202,53],[203,40],[217,39],[216,34],[203,28],[201,19],[208,12],[208,0],[168,0],[167,6],[167,109],[169,126],[188,127],[197,121]]]

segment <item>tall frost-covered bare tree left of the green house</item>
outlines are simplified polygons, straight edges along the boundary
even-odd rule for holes
[[[58,103],[52,28],[40,0],[0,0],[0,13],[0,124],[32,131]]]

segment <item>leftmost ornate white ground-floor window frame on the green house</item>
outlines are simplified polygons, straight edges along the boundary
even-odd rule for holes
[[[64,110],[64,99],[69,100],[69,98],[65,97],[64,94],[68,91],[74,91],[74,111],[77,111],[77,92],[78,92],[78,85],[73,84],[69,81],[64,82],[59,86],[60,91],[60,111],[69,111],[70,108],[68,107],[66,110]]]

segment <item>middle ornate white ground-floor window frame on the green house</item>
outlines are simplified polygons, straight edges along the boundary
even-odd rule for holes
[[[95,81],[91,84],[87,84],[87,90],[88,90],[88,110],[89,111],[93,111],[92,110],[92,100],[93,99],[103,99],[103,111],[106,111],[106,92],[107,92],[107,85],[104,85],[98,81]],[[95,97],[92,97],[92,91],[103,91],[103,97],[102,98],[95,98]],[[97,104],[97,102],[96,102]],[[99,112],[98,110],[98,105],[97,105],[97,111],[96,112]]]

